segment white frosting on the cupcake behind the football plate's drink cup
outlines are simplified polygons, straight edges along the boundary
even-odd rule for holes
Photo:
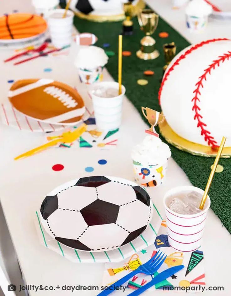
[[[97,46],[81,46],[75,59],[75,66],[81,69],[94,69],[108,61],[105,51]]]

